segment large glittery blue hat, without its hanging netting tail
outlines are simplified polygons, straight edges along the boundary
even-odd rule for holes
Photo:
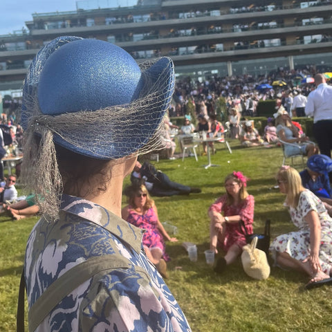
[[[30,64],[23,91],[24,129],[34,126],[38,134],[38,126],[47,127],[54,142],[78,154],[122,158],[145,146],[160,127],[174,92],[174,65],[163,57],[138,66],[109,42],[57,37]],[[98,118],[101,110],[109,120],[89,122],[91,112]],[[81,113],[84,126],[66,124]],[[53,127],[55,118],[66,125]]]

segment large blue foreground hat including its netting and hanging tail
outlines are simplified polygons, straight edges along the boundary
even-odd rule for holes
[[[57,145],[112,163],[162,148],[174,82],[168,57],[138,65],[97,39],[57,37],[39,50],[24,80],[21,178],[42,214],[58,216]]]

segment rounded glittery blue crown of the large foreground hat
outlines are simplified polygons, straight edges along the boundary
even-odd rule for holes
[[[140,76],[138,64],[122,48],[75,40],[48,57],[39,78],[39,107],[56,115],[127,104],[141,89]]]

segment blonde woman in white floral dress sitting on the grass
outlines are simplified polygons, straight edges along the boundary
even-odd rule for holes
[[[295,232],[279,235],[270,251],[277,265],[300,270],[311,277],[306,288],[332,282],[332,219],[324,204],[301,183],[296,169],[283,166],[277,172],[277,183],[286,194],[285,205],[291,214]]]

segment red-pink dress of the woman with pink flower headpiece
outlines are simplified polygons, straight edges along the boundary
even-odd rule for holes
[[[227,196],[219,197],[209,208],[209,211],[216,211],[223,216],[241,216],[248,234],[252,234],[252,223],[254,222],[254,196],[248,195],[239,205],[227,205]],[[237,244],[240,248],[246,245],[246,238],[239,228],[239,223],[226,223],[225,234],[218,237],[218,248],[225,251]]]

